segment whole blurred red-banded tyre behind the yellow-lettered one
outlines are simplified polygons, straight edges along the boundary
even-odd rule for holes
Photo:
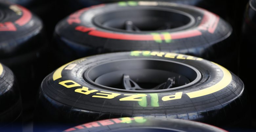
[[[232,35],[227,22],[201,8],[124,2],[84,8],[59,22],[54,52],[66,63],[104,52],[168,51],[205,58],[236,72]]]

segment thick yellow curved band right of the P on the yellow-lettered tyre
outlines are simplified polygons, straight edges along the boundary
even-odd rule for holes
[[[201,97],[204,95],[209,95],[209,94],[215,93],[217,91],[220,91],[220,90],[224,89],[227,85],[229,85],[229,83],[232,81],[232,75],[226,68],[224,68],[223,66],[220,66],[214,62],[212,62],[212,63],[215,64],[216,66],[218,66],[223,71],[223,74],[224,74],[223,78],[221,79],[221,81],[219,81],[217,84],[215,84],[213,86],[210,86],[208,88],[205,88],[205,89],[202,89],[199,91],[187,93],[187,95],[190,98]]]

